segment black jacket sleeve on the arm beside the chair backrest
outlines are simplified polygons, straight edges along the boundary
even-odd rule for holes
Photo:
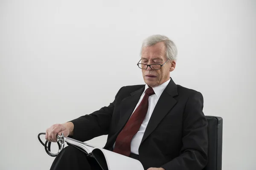
[[[166,170],[202,170],[207,164],[207,119],[200,92],[189,97],[183,113],[183,137],[180,156],[162,165]]]

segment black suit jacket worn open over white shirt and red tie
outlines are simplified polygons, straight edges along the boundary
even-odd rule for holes
[[[73,138],[87,141],[108,135],[105,149],[113,144],[136,107],[145,85],[123,86],[115,100],[90,115],[71,122]],[[201,170],[207,164],[207,120],[200,92],[169,82],[160,96],[139,147],[144,169]]]

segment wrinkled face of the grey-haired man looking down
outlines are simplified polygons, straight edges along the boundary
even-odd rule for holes
[[[143,64],[163,64],[167,61],[166,47],[163,42],[156,43],[154,46],[144,47],[141,54]],[[142,69],[145,84],[151,87],[159,86],[170,78],[170,72],[175,69],[175,61],[167,61],[161,69],[152,70]]]

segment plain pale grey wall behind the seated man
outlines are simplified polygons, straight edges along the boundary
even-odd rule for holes
[[[255,0],[0,0],[0,169],[49,169],[38,133],[144,84],[141,43],[162,34],[175,83],[224,119],[223,170],[255,170],[255,30]]]

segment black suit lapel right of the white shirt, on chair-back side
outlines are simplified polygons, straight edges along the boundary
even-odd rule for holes
[[[160,121],[166,116],[172,107],[174,107],[177,102],[173,98],[175,95],[178,95],[177,85],[171,79],[169,84],[166,86],[166,89],[163,91],[162,95],[157,101],[140,144],[145,141],[145,139],[155,130]]]

